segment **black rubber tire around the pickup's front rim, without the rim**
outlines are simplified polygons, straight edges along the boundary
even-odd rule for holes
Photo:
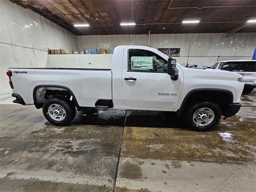
[[[212,122],[208,125],[200,126],[200,125],[197,125],[193,120],[194,113],[196,113],[201,108],[209,108],[214,112],[214,118]],[[193,130],[196,130],[196,131],[206,131],[216,126],[220,121],[220,118],[221,118],[221,110],[216,103],[200,102],[200,103],[194,104],[188,109],[186,113],[186,125],[188,128],[192,128]]]

